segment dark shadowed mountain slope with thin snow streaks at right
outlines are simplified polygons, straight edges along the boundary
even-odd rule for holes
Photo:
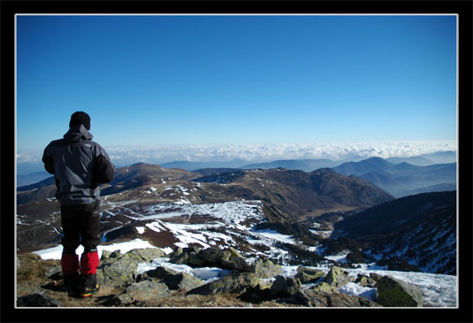
[[[456,274],[456,191],[404,196],[334,224],[375,254],[430,273]]]

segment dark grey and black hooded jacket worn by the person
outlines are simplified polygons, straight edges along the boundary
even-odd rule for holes
[[[61,204],[91,204],[100,196],[99,185],[113,180],[115,166],[83,125],[73,126],[46,147],[44,168],[56,179]]]

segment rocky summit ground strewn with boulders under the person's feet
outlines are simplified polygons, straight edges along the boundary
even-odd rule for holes
[[[198,278],[164,265],[165,260],[193,270],[209,266],[212,279]],[[163,264],[163,262],[162,262]],[[100,292],[87,299],[67,296],[59,260],[42,260],[33,253],[17,258],[18,307],[418,307],[420,290],[391,276],[359,275],[355,279],[332,266],[329,273],[300,266],[294,277],[282,275],[280,265],[258,258],[249,263],[236,250],[176,248],[169,255],[157,248],[126,253],[103,252],[97,270]],[[341,293],[347,283],[378,287],[378,297]],[[360,285],[362,286],[362,285]]]

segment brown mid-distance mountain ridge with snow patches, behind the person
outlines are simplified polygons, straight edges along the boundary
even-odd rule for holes
[[[269,222],[291,226],[307,216],[367,208],[393,198],[366,181],[332,170],[240,170],[212,176],[143,163],[118,168],[115,179],[101,187],[103,216],[113,218],[103,223],[103,232],[134,223],[134,214],[154,204],[179,209],[179,204],[260,200]],[[17,213],[20,249],[56,242],[60,212],[55,198],[19,204]]]

